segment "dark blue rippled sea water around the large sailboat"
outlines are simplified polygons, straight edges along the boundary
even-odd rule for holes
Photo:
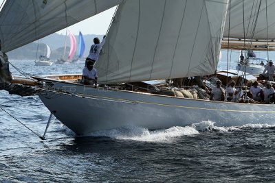
[[[11,62],[36,75],[81,73],[84,65]],[[3,109],[43,136],[50,112],[39,97],[2,90],[0,96]],[[52,119],[42,141],[0,110],[0,182],[275,182],[274,151],[275,120],[239,127],[197,121],[155,131],[129,126],[79,137]]]

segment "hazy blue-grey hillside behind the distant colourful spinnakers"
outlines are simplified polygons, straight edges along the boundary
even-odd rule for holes
[[[78,35],[76,36],[76,42],[78,44]],[[94,35],[94,34],[88,34],[83,35],[84,41],[85,41],[85,53],[83,58],[86,58],[89,54],[89,48],[92,44],[94,44],[93,40],[95,37],[100,38],[102,40],[102,35]],[[45,38],[41,39],[41,42],[43,44],[38,45],[38,40],[35,42],[32,42],[28,45],[25,45],[23,47],[20,47],[18,49],[14,49],[13,51],[8,52],[8,57],[10,59],[14,60],[37,60],[39,59],[39,56],[42,54],[45,50],[45,44],[49,45],[51,48],[51,58],[53,60],[56,60],[58,58],[63,57],[64,52],[64,45],[65,45],[65,35],[62,34],[51,34],[49,36],[46,36]],[[69,54],[69,38],[67,38],[67,49],[65,53],[65,57],[67,57]]]

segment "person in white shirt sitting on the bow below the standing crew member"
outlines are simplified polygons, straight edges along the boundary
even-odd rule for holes
[[[97,88],[98,74],[94,69],[94,62],[91,60],[87,61],[87,66],[83,69],[83,84],[94,85]]]

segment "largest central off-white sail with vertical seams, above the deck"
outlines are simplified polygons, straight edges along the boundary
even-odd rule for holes
[[[214,73],[227,6],[228,0],[123,1],[96,63],[99,82]]]

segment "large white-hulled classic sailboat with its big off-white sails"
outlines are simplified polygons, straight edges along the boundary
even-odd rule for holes
[[[5,3],[0,13],[2,51],[25,45],[119,4],[107,34],[104,52],[96,63],[98,82],[105,86],[94,88],[76,82],[81,74],[34,77],[45,82],[45,88],[39,92],[45,106],[69,129],[76,134],[87,134],[129,124],[159,129],[208,120],[223,126],[274,124],[274,105],[186,99],[148,92],[152,88],[126,86],[133,82],[215,73],[221,40],[242,37],[243,29],[240,27],[250,23],[249,19],[245,18],[245,22],[240,19],[242,13],[245,17],[252,14],[258,19],[254,23],[253,36],[247,34],[245,38],[275,38],[275,31],[263,36],[267,27],[275,29],[275,20],[260,22],[265,10],[274,14],[275,1],[263,1],[261,4],[256,0],[253,6],[252,1],[244,2],[247,12],[242,11],[243,3],[237,0],[71,0],[44,1],[44,4],[38,0],[32,3],[11,0]],[[27,17],[21,16],[25,19],[20,23],[17,19],[12,19],[12,23],[8,21],[26,11],[41,14],[30,13],[32,16],[28,16],[26,13]],[[22,26],[14,32],[23,31],[22,34],[25,34],[27,29],[24,28],[30,22],[41,20],[42,23],[59,13],[61,15],[52,20],[50,30],[39,29],[44,24],[31,24],[34,27],[30,27],[30,34],[23,38],[20,35],[11,38],[4,26],[20,24]],[[32,34],[34,30],[36,34]],[[152,90],[157,89],[153,87]]]

